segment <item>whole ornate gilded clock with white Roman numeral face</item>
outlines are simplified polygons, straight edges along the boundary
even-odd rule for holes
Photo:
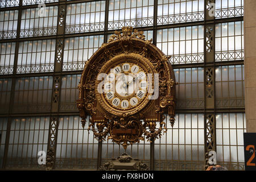
[[[152,141],[166,130],[164,113],[174,125],[174,71],[168,57],[144,39],[143,31],[123,27],[86,61],[77,107],[83,127],[90,115],[89,129],[98,140],[108,137],[125,148],[143,134]]]

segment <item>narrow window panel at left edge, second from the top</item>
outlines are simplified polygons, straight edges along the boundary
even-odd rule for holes
[[[18,10],[0,11],[0,39],[16,38]]]

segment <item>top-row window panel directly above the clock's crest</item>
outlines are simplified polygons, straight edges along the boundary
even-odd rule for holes
[[[154,23],[154,0],[110,0],[108,29],[144,27]]]

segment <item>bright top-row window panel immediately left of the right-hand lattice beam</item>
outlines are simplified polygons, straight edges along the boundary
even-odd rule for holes
[[[204,0],[158,0],[158,24],[197,22],[204,20]]]

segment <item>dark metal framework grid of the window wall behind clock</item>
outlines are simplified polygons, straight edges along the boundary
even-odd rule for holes
[[[101,1],[101,0],[94,0],[94,1]],[[20,116],[40,116],[40,115],[49,115],[51,121],[59,122],[58,119],[60,115],[79,115],[79,111],[60,111],[59,109],[59,98],[60,98],[60,91],[61,91],[61,79],[65,75],[79,75],[82,71],[65,71],[63,72],[63,52],[64,52],[64,40],[65,38],[75,38],[78,36],[90,36],[90,35],[104,35],[104,43],[108,42],[108,35],[113,34],[115,30],[108,30],[108,10],[109,10],[109,0],[105,1],[105,28],[104,31],[94,31],[94,32],[81,32],[77,34],[65,34],[65,13],[67,5],[73,3],[82,3],[82,2],[92,2],[92,0],[75,0],[75,1],[67,1],[67,0],[59,0],[58,2],[49,2],[46,3],[46,6],[58,6],[58,20],[57,20],[57,34],[56,35],[49,35],[49,36],[40,36],[40,37],[27,37],[27,38],[20,38],[20,20],[22,15],[22,10],[24,9],[31,9],[36,8],[38,5],[22,5],[22,0],[19,0],[19,6],[13,7],[1,7],[0,11],[9,11],[9,10],[18,10],[18,26],[16,30],[16,38],[13,39],[2,39],[2,43],[8,42],[15,42],[15,56],[14,56],[14,71],[13,74],[10,75],[0,75],[0,78],[11,78],[11,94],[10,94],[10,105],[9,111],[5,114],[0,114],[0,117],[7,117],[7,133],[6,133],[6,141],[5,141],[5,154],[3,159],[3,166],[2,168],[6,168],[6,160],[7,160],[7,152],[9,146],[9,138],[10,138],[10,127],[11,127],[11,120],[14,117]],[[216,67],[224,66],[224,65],[243,65],[243,60],[235,60],[235,61],[220,61],[215,62],[215,25],[218,23],[228,23],[228,22],[237,22],[242,21],[243,16],[236,16],[232,18],[221,18],[221,19],[214,19],[213,17],[208,16],[208,3],[215,2],[215,0],[205,0],[204,1],[204,20],[200,20],[197,22],[185,22],[185,23],[175,23],[175,24],[162,24],[158,25],[158,0],[154,0],[154,23],[153,26],[148,27],[137,27],[139,30],[152,30],[153,31],[153,44],[156,44],[156,32],[157,30],[163,28],[176,28],[176,27],[186,27],[186,26],[204,26],[204,63],[193,63],[193,64],[175,64],[173,68],[204,68],[204,88],[205,88],[205,106],[203,109],[177,109],[176,113],[203,113],[205,115],[205,154],[207,154],[210,150],[216,150],[216,121],[215,115],[216,113],[245,113],[245,107],[240,108],[227,108],[227,109],[218,109],[216,108],[216,97],[215,97],[215,77],[214,72]],[[212,32],[209,35],[207,32],[207,28],[211,27],[210,29]],[[121,29],[117,30],[120,31]],[[209,29],[208,29],[209,30]],[[55,69],[54,72],[39,72],[39,73],[24,73],[24,74],[17,74],[17,62],[18,62],[18,49],[19,49],[19,42],[24,41],[32,41],[32,40],[46,40],[46,39],[55,39],[56,40],[56,48],[55,48]],[[207,41],[211,39],[211,42],[208,42],[208,46],[212,47],[212,51],[209,51],[209,47],[207,48]],[[36,112],[36,113],[15,113],[13,111],[14,101],[14,90],[15,90],[15,83],[21,77],[39,77],[39,76],[53,76],[53,85],[52,85],[52,102],[51,102],[51,111],[49,113],[46,112]],[[209,82],[209,78],[210,80]],[[209,89],[208,85],[211,85]],[[208,97],[210,94],[210,97]],[[57,126],[56,123],[56,126]],[[53,127],[55,125],[49,126],[49,133],[53,131]],[[52,140],[56,140],[57,138],[57,130],[54,130],[55,138],[48,138],[48,150],[53,149],[53,154],[48,155],[51,158],[55,158],[56,155],[56,142]],[[208,134],[211,134],[210,137]],[[209,145],[210,142],[210,145]],[[154,159],[154,143],[150,144],[150,169],[155,169],[155,159]],[[98,142],[98,158],[97,158],[97,168],[101,166],[102,160],[102,142]],[[207,156],[205,157],[207,159]],[[0,167],[1,168],[1,167]],[[54,169],[54,164],[51,169]]]

